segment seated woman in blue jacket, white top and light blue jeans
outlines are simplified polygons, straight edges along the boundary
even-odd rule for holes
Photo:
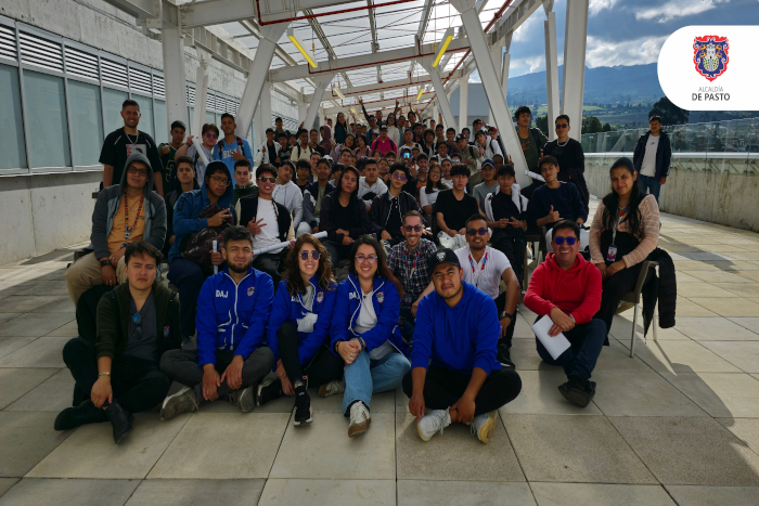
[[[332,351],[345,361],[343,413],[350,416],[348,436],[364,432],[373,392],[395,390],[411,365],[400,337],[398,314],[403,288],[373,238],[353,243],[349,276],[337,287],[332,323]],[[320,394],[337,393],[333,381]]]

